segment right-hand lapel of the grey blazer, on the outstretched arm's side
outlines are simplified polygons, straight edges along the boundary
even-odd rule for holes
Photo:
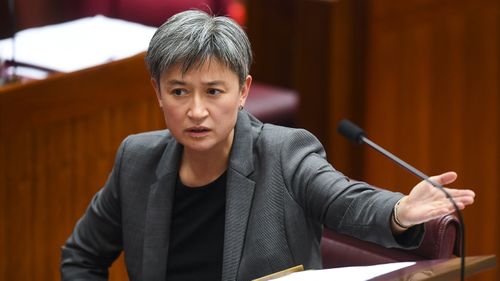
[[[237,278],[255,187],[255,182],[248,178],[253,170],[250,120],[245,112],[240,112],[227,171],[222,280]]]

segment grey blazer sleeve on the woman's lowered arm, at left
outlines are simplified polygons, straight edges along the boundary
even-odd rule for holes
[[[122,250],[119,173],[126,140],[108,180],[62,247],[62,280],[107,280],[108,268]]]

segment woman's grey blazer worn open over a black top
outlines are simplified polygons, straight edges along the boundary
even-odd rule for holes
[[[351,182],[309,132],[238,115],[227,169],[222,280],[251,280],[302,264],[321,268],[322,227],[387,247],[415,247],[422,227],[396,240],[401,194]],[[123,250],[129,278],[165,280],[182,146],[168,130],[132,135],[105,186],[62,248],[63,280],[106,280]]]

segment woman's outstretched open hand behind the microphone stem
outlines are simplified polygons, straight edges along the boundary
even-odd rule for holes
[[[456,178],[457,174],[455,172],[447,172],[430,177],[430,180],[445,186],[454,182]],[[444,189],[450,194],[459,209],[463,209],[465,206],[474,203],[475,193],[470,189]],[[397,211],[395,213],[397,221],[400,225],[408,227],[424,223],[455,211],[453,204],[446,197],[444,192],[426,181],[418,183],[411,190],[409,195],[400,200],[396,208]],[[404,230],[401,229],[401,227],[397,227],[397,225],[398,224],[393,223],[393,227],[396,226],[395,230]]]

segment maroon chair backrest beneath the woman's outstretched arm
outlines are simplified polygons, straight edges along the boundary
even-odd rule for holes
[[[374,243],[325,229],[321,240],[323,267],[361,266],[380,263],[440,259],[460,253],[460,223],[454,214],[425,223],[425,236],[415,250],[384,248]]]

